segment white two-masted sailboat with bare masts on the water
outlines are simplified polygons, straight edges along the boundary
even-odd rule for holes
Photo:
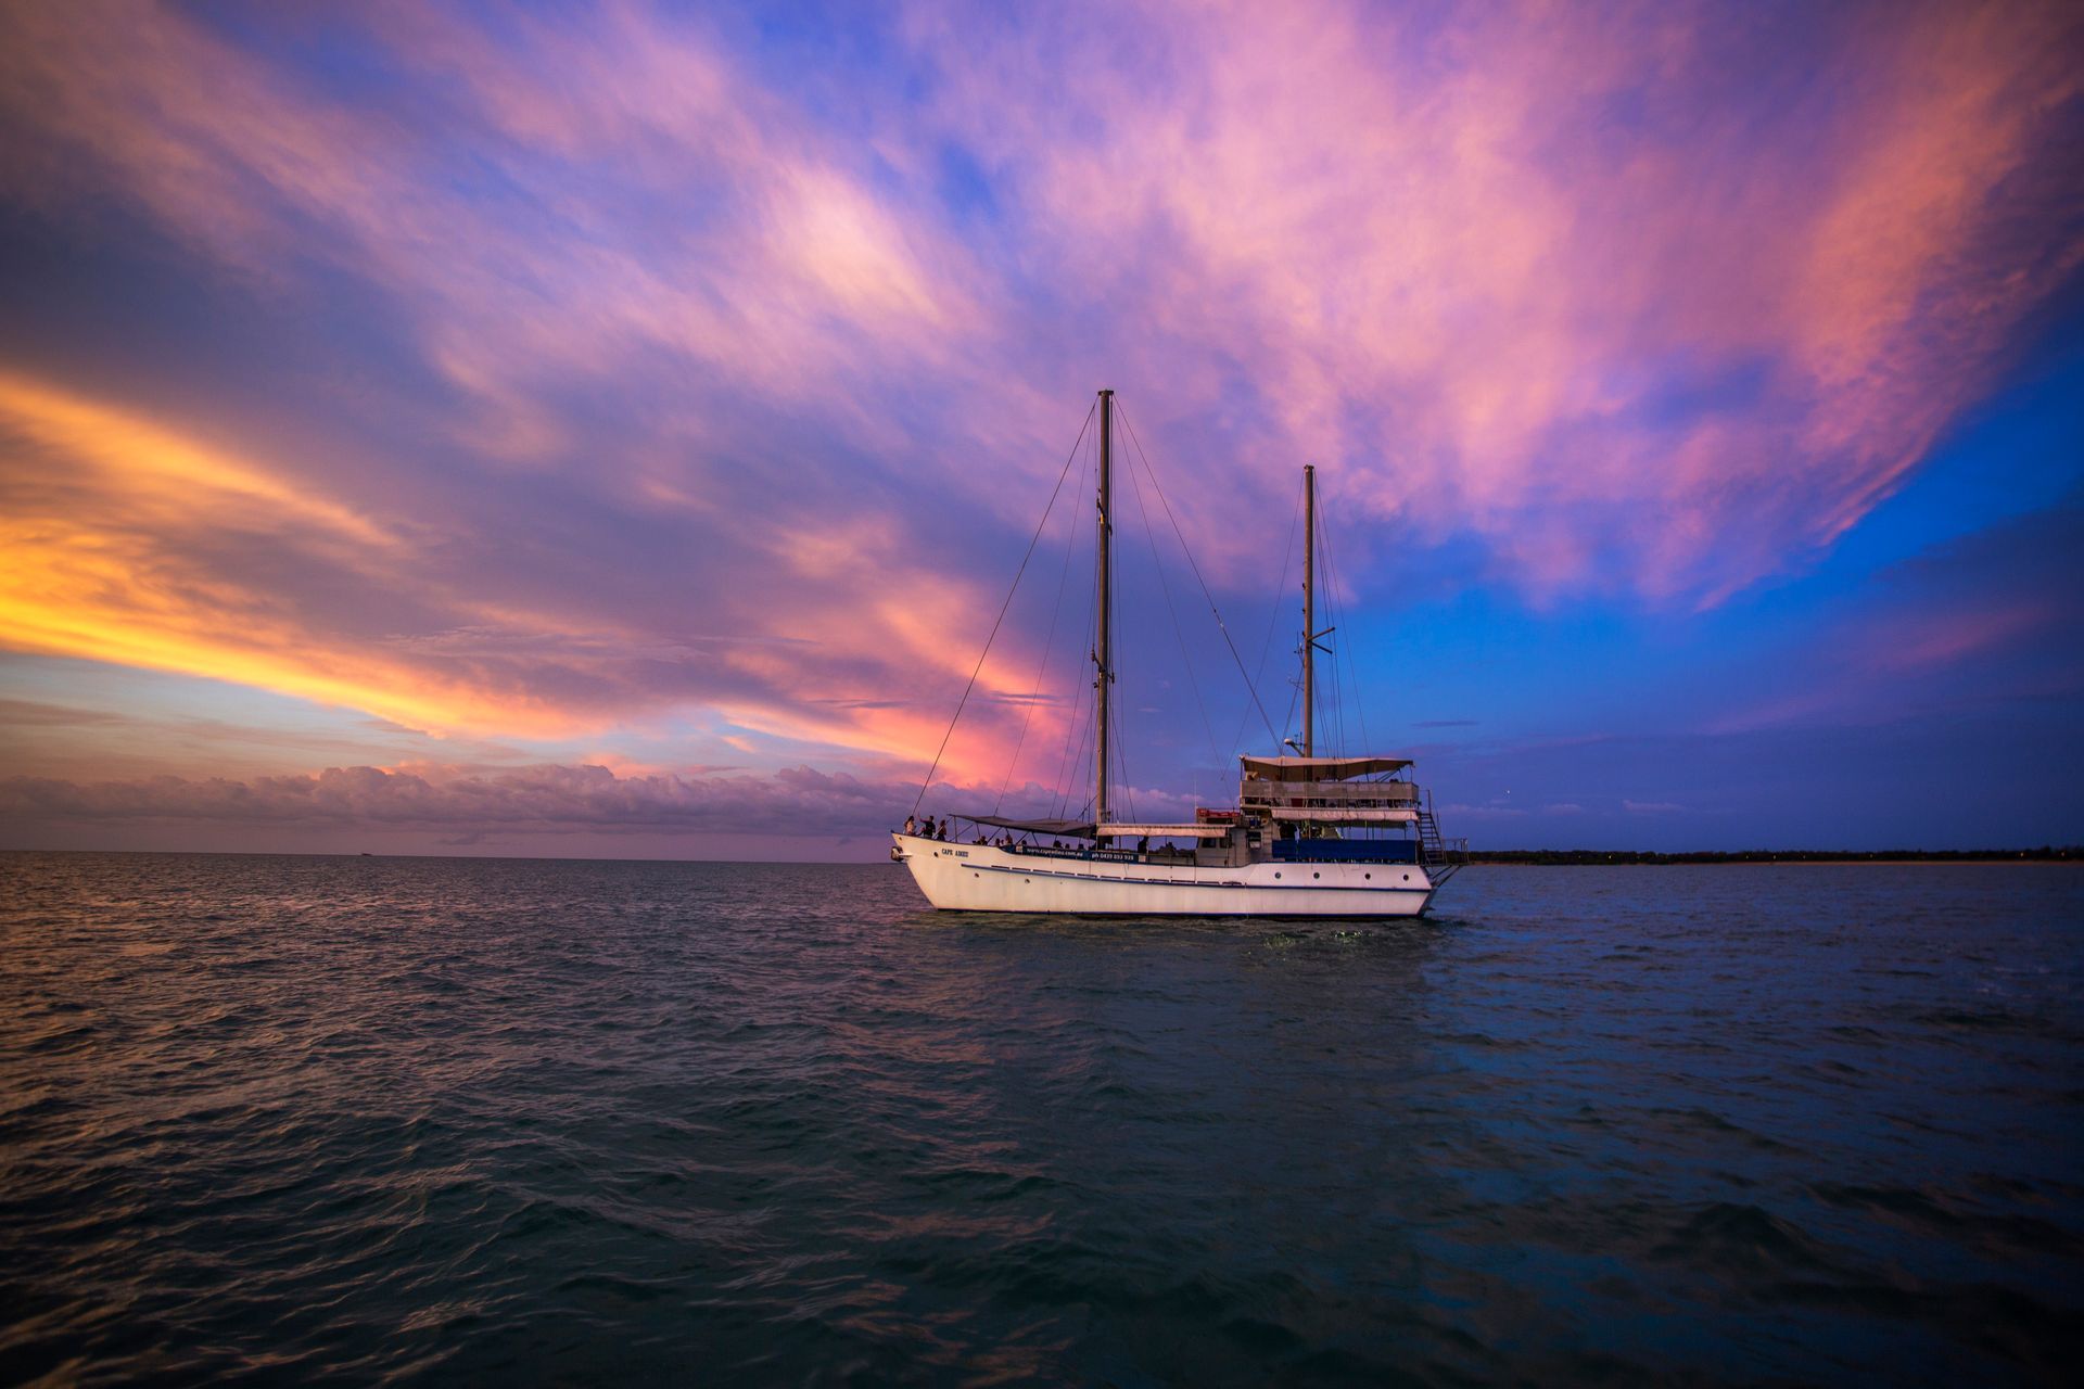
[[[1240,756],[1234,806],[1192,823],[1115,814],[1109,693],[1115,683],[1111,544],[1115,394],[1098,398],[1098,577],[1092,818],[957,814],[938,833],[890,835],[925,900],[957,912],[1071,916],[1419,916],[1467,862],[1440,835],[1411,758],[1317,756],[1317,471],[1302,469],[1302,729],[1292,754]],[[927,773],[932,781],[932,773]],[[929,820],[932,825],[932,820]],[[967,833],[963,825],[971,827]],[[965,841],[967,839],[967,841]],[[1069,843],[1065,843],[1069,841]],[[1157,848],[1152,848],[1157,841]]]

